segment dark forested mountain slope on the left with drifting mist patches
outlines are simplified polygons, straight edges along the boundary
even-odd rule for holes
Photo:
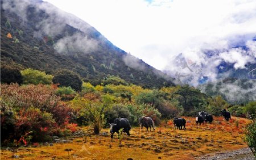
[[[170,77],[115,47],[88,23],[42,1],[1,0],[1,63],[51,74],[69,69],[94,84],[118,75],[144,87],[173,85]]]

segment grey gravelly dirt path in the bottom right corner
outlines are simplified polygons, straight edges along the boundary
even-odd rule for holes
[[[255,160],[253,153],[249,148],[242,148],[233,151],[225,151],[225,152],[218,152],[214,154],[206,154],[196,159],[205,159],[205,160],[219,160],[219,159],[226,159],[226,160]]]

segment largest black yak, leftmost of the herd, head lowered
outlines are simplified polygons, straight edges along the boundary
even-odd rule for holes
[[[125,118],[117,118],[114,120],[114,123],[109,124],[110,125],[110,133],[111,138],[113,139],[113,134],[116,132],[119,135],[119,130],[122,128],[123,132],[127,133],[128,136],[130,136],[130,129],[131,125],[129,123],[129,120]]]

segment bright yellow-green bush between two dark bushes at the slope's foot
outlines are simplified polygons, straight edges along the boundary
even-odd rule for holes
[[[43,84],[43,85],[50,85],[52,83],[52,75],[46,74],[44,71],[39,71],[35,69],[25,69],[21,71],[23,77],[23,84]]]

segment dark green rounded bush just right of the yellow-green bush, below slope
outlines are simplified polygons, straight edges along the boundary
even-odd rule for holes
[[[82,89],[82,80],[79,75],[66,69],[58,71],[54,75],[52,82],[59,83],[60,86],[71,87],[76,91],[81,91]]]

